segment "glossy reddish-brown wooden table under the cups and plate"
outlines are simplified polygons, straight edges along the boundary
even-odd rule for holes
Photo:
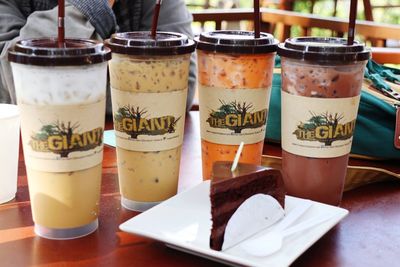
[[[280,153],[279,146],[267,145],[265,150]],[[400,172],[398,165],[391,167]],[[199,117],[198,112],[192,111],[186,119],[179,189],[186,190],[200,182]],[[293,266],[398,264],[399,204],[399,182],[373,184],[345,193],[342,207],[350,214]],[[35,236],[21,157],[16,199],[0,206],[0,266],[221,266],[118,229],[120,223],[137,213],[120,206],[115,150],[107,146],[100,206],[99,229],[89,236],[69,241]]]

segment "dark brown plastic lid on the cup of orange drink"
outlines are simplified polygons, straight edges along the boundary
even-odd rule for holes
[[[251,31],[212,31],[195,38],[197,49],[228,54],[263,54],[275,52],[278,45],[271,34]]]

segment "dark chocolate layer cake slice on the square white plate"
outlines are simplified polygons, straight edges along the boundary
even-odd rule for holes
[[[232,162],[213,165],[210,186],[212,229],[210,247],[221,250],[225,228],[239,206],[249,197],[262,193],[275,198],[284,207],[285,187],[279,170],[239,163],[231,172]]]

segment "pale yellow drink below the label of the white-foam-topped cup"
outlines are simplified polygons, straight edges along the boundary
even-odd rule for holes
[[[27,168],[35,223],[48,228],[75,228],[99,215],[101,164],[83,171],[56,173]]]

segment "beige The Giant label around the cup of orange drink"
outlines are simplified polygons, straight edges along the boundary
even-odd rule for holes
[[[201,138],[217,144],[264,140],[270,88],[225,89],[199,85]]]

